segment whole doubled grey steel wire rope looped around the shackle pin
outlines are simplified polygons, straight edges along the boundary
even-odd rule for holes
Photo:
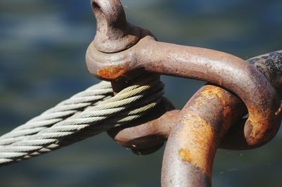
[[[109,82],[92,86],[1,136],[0,165],[49,153],[133,122],[154,108],[164,94],[158,75],[138,77],[116,96],[110,86]]]

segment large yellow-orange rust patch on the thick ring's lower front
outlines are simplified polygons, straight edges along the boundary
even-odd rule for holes
[[[212,124],[195,115],[189,115],[187,119],[180,119],[179,122],[183,125],[176,135],[180,142],[178,150],[180,159],[200,167],[208,176],[211,176],[216,150]]]

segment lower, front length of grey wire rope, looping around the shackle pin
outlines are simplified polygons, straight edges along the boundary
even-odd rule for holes
[[[159,103],[164,93],[164,85],[159,81],[159,76],[146,76],[139,77],[132,86],[123,89],[114,97],[94,103],[93,106],[82,112],[76,112],[51,127],[45,126],[37,134],[27,135],[20,141],[1,146],[0,165],[48,153],[141,117]],[[25,124],[25,127],[30,128],[31,125]],[[25,127],[18,128],[25,129]],[[85,133],[89,131],[91,132]],[[63,142],[64,139],[66,142]]]

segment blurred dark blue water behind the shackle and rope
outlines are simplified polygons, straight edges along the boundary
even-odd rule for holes
[[[128,20],[159,40],[247,59],[282,49],[281,0],[123,0]],[[95,34],[89,1],[0,1],[0,133],[99,80],[85,67]],[[203,82],[163,77],[181,108]],[[282,186],[281,131],[250,151],[219,150],[214,186]],[[0,186],[160,186],[163,149],[140,157],[106,134],[0,168]]]

